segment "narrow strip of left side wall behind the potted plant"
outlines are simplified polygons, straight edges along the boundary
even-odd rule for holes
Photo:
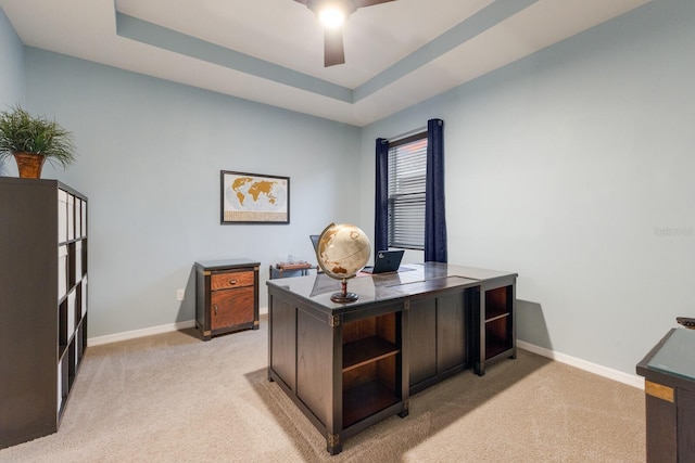
[[[0,9],[0,111],[24,104],[24,46]],[[14,160],[0,162],[0,176],[16,177]]]

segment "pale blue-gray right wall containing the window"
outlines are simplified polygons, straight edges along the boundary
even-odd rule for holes
[[[693,24],[660,0],[374,124],[364,188],[376,137],[443,118],[450,261],[519,272],[520,339],[634,373],[695,317]]]

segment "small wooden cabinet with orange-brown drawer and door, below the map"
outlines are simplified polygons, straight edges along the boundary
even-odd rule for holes
[[[258,329],[258,267],[249,259],[195,262],[195,326],[213,336]]]

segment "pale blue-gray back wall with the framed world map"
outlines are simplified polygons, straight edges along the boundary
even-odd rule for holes
[[[261,261],[266,307],[270,263],[357,219],[355,127],[33,48],[26,63],[29,110],[77,141],[78,162],[43,177],[89,196],[90,337],[192,320],[197,260]],[[220,170],[290,177],[291,223],[220,226]]]

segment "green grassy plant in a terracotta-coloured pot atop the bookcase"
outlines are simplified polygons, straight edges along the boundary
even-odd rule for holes
[[[34,117],[18,105],[0,113],[0,160],[14,156],[21,178],[38,179],[49,163],[66,168],[75,162],[73,136],[55,120]]]

